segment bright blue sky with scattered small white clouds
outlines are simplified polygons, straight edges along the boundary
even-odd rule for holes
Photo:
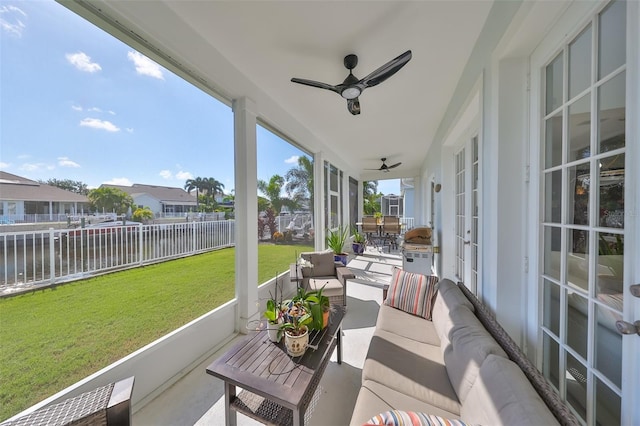
[[[0,0],[0,169],[34,180],[233,189],[231,109],[51,1]],[[303,154],[258,128],[258,177]],[[385,194],[399,183],[380,181]]]

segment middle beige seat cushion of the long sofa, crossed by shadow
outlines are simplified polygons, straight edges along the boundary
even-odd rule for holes
[[[446,411],[457,413],[460,409],[438,346],[376,330],[362,369],[362,381],[366,380]]]

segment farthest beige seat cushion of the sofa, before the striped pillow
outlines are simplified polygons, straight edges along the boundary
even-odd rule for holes
[[[407,339],[440,346],[440,339],[431,321],[416,317],[391,306],[382,305],[376,329],[398,334]]]

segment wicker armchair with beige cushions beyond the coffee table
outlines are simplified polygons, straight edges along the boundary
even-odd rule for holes
[[[301,253],[300,257],[313,266],[292,265],[291,279],[301,281],[302,287],[306,290],[319,290],[324,287],[323,294],[329,298],[332,305],[346,306],[347,280],[355,278],[351,270],[336,262],[331,251],[305,252]]]

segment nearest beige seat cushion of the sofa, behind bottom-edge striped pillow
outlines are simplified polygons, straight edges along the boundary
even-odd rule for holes
[[[459,418],[458,411],[451,412],[420,401],[387,386],[367,380],[362,384],[351,415],[351,426],[362,426],[378,413],[388,410],[418,411],[451,419]]]

